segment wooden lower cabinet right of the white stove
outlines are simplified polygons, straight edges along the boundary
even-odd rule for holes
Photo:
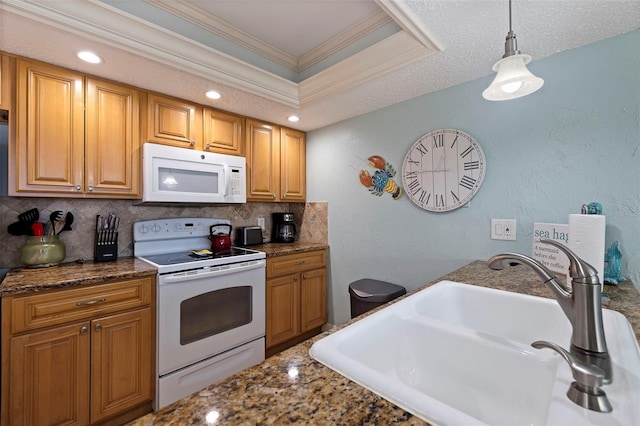
[[[267,259],[267,356],[320,333],[326,322],[326,251]]]

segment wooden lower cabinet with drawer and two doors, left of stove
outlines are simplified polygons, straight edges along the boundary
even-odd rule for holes
[[[122,424],[150,412],[154,282],[3,298],[2,425]]]

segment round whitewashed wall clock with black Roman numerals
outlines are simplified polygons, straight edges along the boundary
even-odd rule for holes
[[[480,189],[484,152],[467,133],[438,129],[418,139],[402,163],[402,186],[409,199],[431,212],[465,205]]]

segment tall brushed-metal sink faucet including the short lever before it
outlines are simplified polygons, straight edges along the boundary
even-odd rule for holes
[[[604,336],[598,272],[562,244],[548,239],[540,242],[557,247],[567,255],[571,288],[558,281],[540,262],[519,253],[498,254],[489,259],[487,265],[497,270],[527,265],[540,276],[571,323],[571,347],[567,352],[554,343],[534,342],[532,346],[555,350],[569,363],[576,382],[567,395],[573,402],[590,410],[609,412],[611,405],[600,389],[602,384],[611,383],[613,374]]]

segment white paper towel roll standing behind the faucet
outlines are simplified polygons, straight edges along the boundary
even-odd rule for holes
[[[603,215],[569,215],[569,249],[596,268],[601,284],[604,283],[605,227]]]

